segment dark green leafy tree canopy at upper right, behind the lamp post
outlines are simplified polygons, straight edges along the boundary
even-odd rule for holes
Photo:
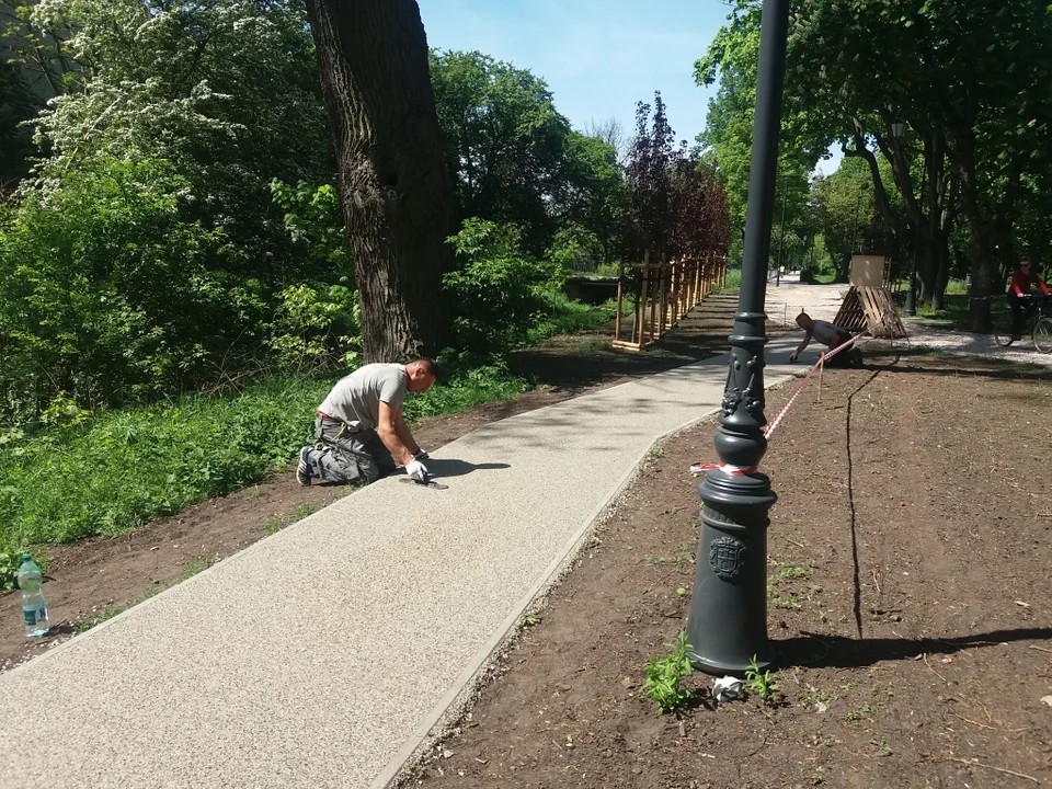
[[[736,0],[696,68],[700,82],[720,80],[702,141],[719,162],[735,217],[761,5]],[[1047,184],[1052,156],[1050,58],[1052,11],[1042,0],[799,0],[781,161],[810,165],[816,151],[838,144],[866,162],[892,245],[918,245],[923,295],[936,302],[960,238],[954,228],[963,227],[973,325],[984,329],[1006,268],[1024,249],[1045,254],[1048,235],[1032,218],[1049,207],[1039,184]]]

